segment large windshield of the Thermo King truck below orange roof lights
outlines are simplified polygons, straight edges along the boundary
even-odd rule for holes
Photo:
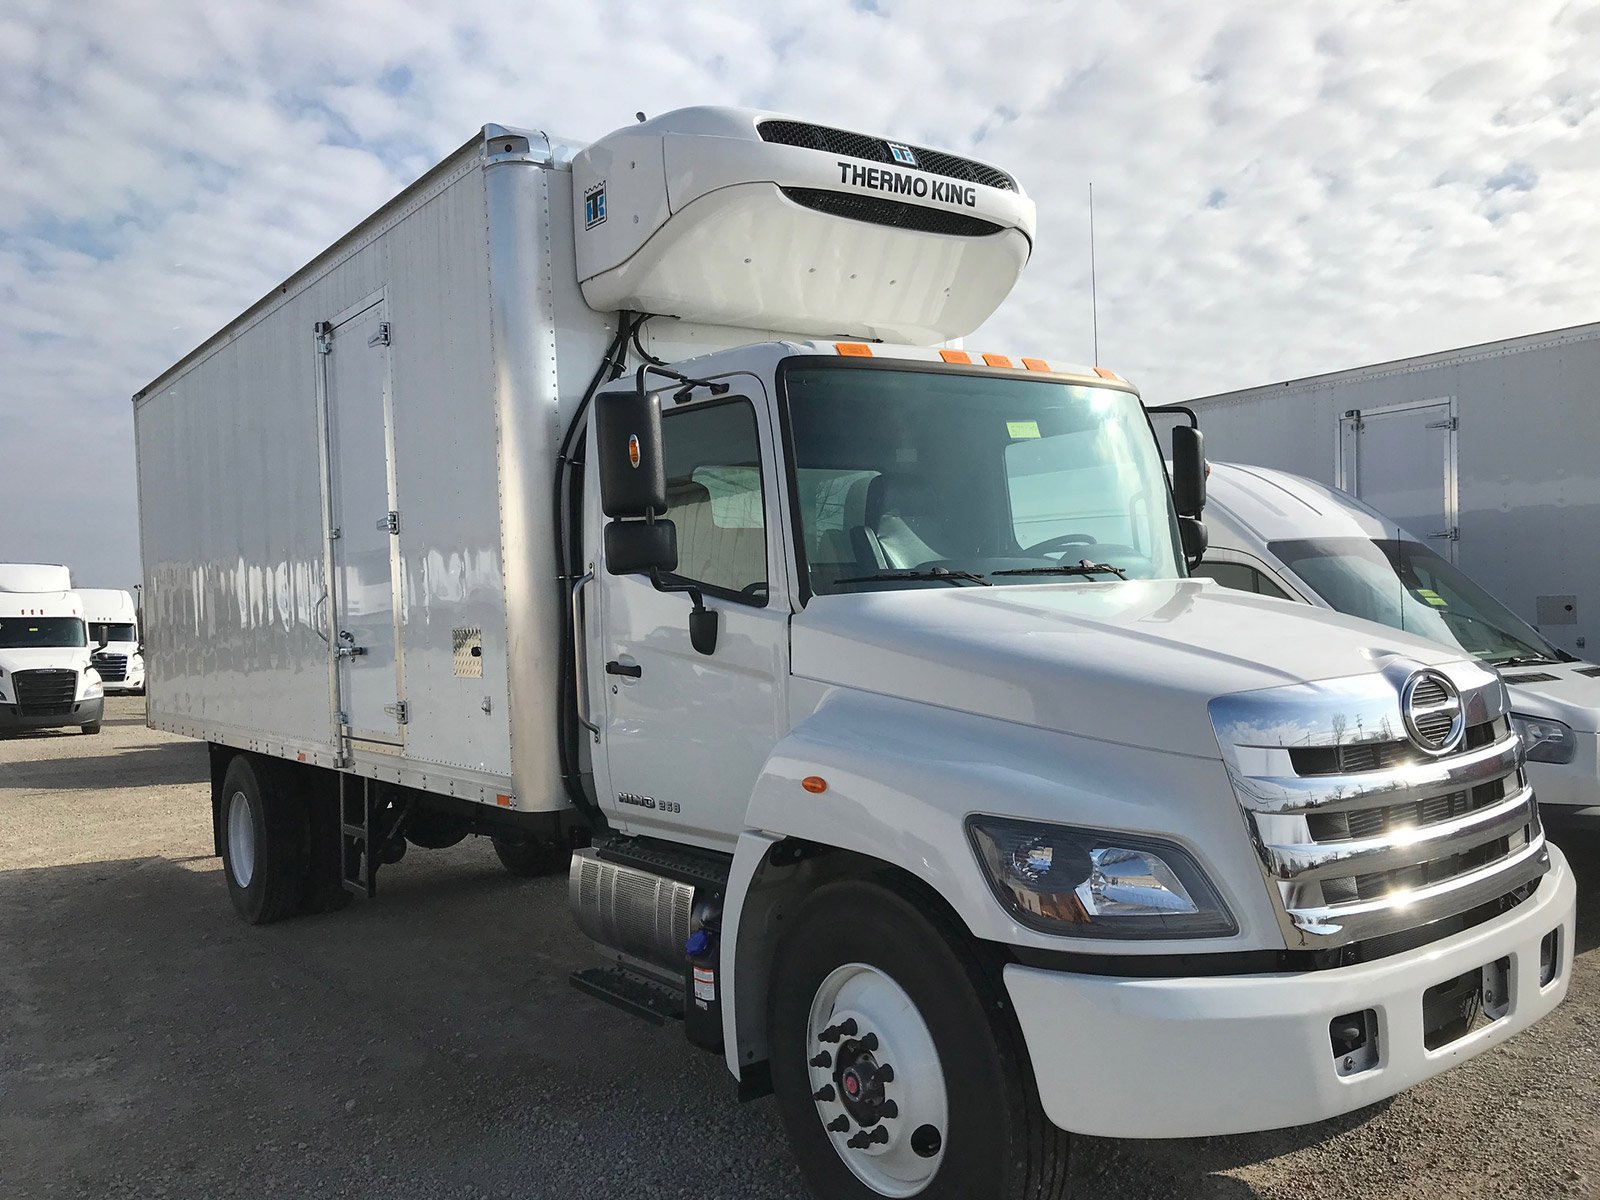
[[[843,365],[792,365],[784,386],[819,595],[1117,578],[1085,560],[1130,579],[1182,574],[1166,472],[1130,392]]]

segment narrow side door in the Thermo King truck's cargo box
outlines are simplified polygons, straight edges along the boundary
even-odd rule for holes
[[[389,322],[370,298],[318,330],[328,437],[328,538],[339,734],[347,749],[405,744],[400,514]]]

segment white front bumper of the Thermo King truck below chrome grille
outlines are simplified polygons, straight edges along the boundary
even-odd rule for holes
[[[1410,1088],[1539,1021],[1566,995],[1576,886],[1562,851],[1512,912],[1358,966],[1296,974],[1123,979],[1006,966],[1040,1101],[1056,1125],[1104,1138],[1200,1138],[1336,1117]],[[1555,978],[1539,944],[1560,930]],[[1438,1050],[1422,994],[1510,958],[1510,1003]],[[1341,1075],[1328,1024],[1374,1010],[1378,1062]]]

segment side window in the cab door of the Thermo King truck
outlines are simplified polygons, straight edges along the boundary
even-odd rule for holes
[[[664,413],[667,518],[678,533],[674,578],[712,595],[766,605],[762,445],[749,400]]]

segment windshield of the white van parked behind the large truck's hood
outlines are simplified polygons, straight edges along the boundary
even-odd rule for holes
[[[1560,658],[1522,618],[1419,542],[1307,538],[1267,549],[1339,613],[1490,662]]]

